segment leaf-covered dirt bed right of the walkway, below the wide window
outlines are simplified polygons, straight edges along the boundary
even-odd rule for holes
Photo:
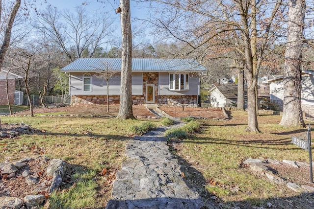
[[[223,111],[216,108],[161,106],[159,109],[173,117],[224,118]]]

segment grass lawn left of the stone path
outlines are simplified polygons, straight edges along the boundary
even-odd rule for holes
[[[112,179],[121,169],[129,129],[160,126],[158,121],[99,117],[0,117],[2,123],[29,124],[41,133],[0,140],[0,162],[45,155],[63,159],[71,183],[50,197],[52,209],[102,208],[111,198]],[[5,147],[5,149],[3,149]],[[27,147],[31,147],[27,149]],[[2,151],[3,150],[3,151]],[[108,174],[99,175],[106,167]],[[110,177],[110,178],[109,178]]]

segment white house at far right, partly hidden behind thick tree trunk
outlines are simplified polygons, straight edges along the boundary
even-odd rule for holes
[[[279,109],[283,109],[284,100],[284,77],[276,76],[269,79],[270,84],[270,101],[276,103]],[[314,118],[314,71],[302,71],[302,92],[301,92],[301,107],[305,117]]]

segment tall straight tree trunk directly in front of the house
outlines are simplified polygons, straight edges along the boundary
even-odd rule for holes
[[[134,118],[132,110],[132,32],[130,0],[120,0],[122,54],[121,54],[121,94],[117,118]]]

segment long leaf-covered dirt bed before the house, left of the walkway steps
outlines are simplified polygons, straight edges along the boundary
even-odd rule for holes
[[[107,105],[76,105],[53,108],[34,108],[34,115],[83,115],[83,116],[117,116],[119,112],[119,104],[110,104],[109,113],[107,113]],[[16,113],[14,115],[29,115],[29,110]],[[133,115],[135,117],[156,117],[153,113],[144,107],[144,105],[133,105]]]

